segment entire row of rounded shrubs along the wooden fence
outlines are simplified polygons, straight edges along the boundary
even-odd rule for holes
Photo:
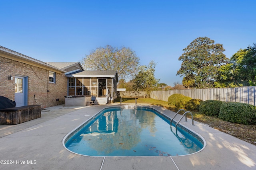
[[[244,125],[256,125],[256,107],[238,102],[192,99],[182,94],[173,94],[168,104],[178,108],[199,111],[201,114],[218,117],[221,120]]]

